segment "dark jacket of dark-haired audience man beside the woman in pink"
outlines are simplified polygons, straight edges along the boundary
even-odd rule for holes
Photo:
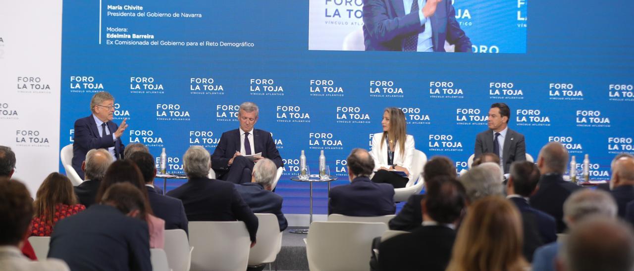
[[[148,189],[148,198],[154,215],[165,220],[165,229],[183,229],[185,233],[188,233],[188,222],[183,202],[180,199],[163,196],[152,187],[146,186],[145,188]]]

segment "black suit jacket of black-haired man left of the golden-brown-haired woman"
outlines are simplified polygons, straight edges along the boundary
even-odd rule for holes
[[[451,259],[456,231],[441,225],[424,226],[378,246],[380,270],[444,271]]]

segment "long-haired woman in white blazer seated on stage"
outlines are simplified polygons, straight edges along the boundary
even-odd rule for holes
[[[414,153],[414,137],[407,134],[405,115],[396,107],[385,108],[383,113],[383,132],[374,134],[370,155],[374,159],[373,182],[392,184],[402,188],[408,177],[401,177],[398,171],[410,175],[411,160]]]

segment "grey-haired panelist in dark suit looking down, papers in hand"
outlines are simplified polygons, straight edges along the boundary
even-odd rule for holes
[[[238,110],[240,129],[224,132],[211,156],[211,166],[216,171],[218,179],[234,184],[250,182],[255,163],[244,158],[243,155],[262,153],[262,157],[269,158],[277,167],[283,166],[271,133],[254,129],[258,114],[259,108],[256,104],[250,102],[240,104],[240,110]]]

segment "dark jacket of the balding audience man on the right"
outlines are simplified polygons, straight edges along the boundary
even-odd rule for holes
[[[572,182],[566,182],[562,175],[545,174],[541,175],[539,189],[531,196],[530,204],[533,208],[543,211],[555,218],[557,222],[557,232],[566,230],[564,223],[564,201],[579,186]]]

